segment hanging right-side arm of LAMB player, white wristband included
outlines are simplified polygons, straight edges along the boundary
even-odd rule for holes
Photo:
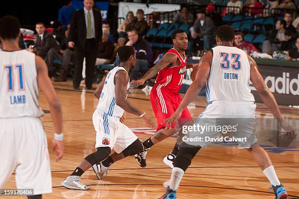
[[[48,68],[44,60],[36,56],[35,63],[38,73],[38,84],[39,88],[42,90],[46,100],[48,101],[51,118],[54,123],[55,133],[58,134],[56,139],[52,141],[52,150],[56,151],[57,158],[56,161],[60,160],[64,155],[64,145],[62,142],[62,110],[60,102],[56,96],[54,87],[50,78],[48,77]],[[58,140],[59,139],[59,140]]]

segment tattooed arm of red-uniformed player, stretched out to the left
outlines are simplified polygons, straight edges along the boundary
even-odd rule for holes
[[[177,56],[175,54],[166,54],[156,65],[150,68],[148,72],[146,72],[146,74],[144,74],[143,78],[141,78],[140,80],[132,81],[132,83],[136,84],[137,86],[143,85],[146,80],[149,80],[150,78],[154,77],[160,70],[174,63],[176,60]]]

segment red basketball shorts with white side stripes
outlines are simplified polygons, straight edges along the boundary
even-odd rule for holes
[[[157,130],[165,128],[166,124],[162,123],[165,119],[168,119],[180,105],[182,101],[180,94],[154,85],[150,91],[149,99],[158,122]],[[188,108],[186,107],[180,119],[178,120],[178,123],[179,125],[182,125],[187,121],[192,121],[192,117]],[[175,126],[177,125],[173,122],[171,127]]]

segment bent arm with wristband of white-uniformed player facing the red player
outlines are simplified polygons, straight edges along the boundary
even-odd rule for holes
[[[133,106],[126,98],[127,98],[127,84],[129,81],[128,73],[124,70],[118,71],[114,76],[114,84],[115,84],[115,102],[118,106],[120,106],[125,111],[141,116],[144,114],[144,111],[139,110],[135,106]],[[153,127],[152,121],[146,116],[142,117],[150,127]]]

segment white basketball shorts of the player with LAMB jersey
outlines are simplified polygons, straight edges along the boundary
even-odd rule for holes
[[[52,192],[47,138],[39,118],[0,119],[0,188],[16,170],[18,189]]]

